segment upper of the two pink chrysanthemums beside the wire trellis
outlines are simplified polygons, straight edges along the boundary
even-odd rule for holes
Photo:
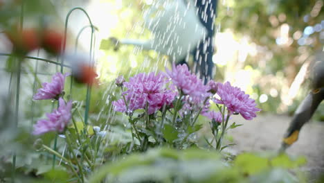
[[[52,77],[52,82],[44,82],[42,88],[37,90],[37,94],[33,96],[34,100],[44,100],[44,99],[57,99],[60,97],[64,89],[64,81],[69,73],[64,75],[60,72],[55,73]]]

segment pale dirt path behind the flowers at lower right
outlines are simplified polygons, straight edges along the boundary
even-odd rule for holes
[[[264,115],[253,121],[244,121],[235,116],[232,121],[244,125],[230,130],[237,146],[233,147],[235,153],[242,151],[278,150],[283,134],[288,128],[291,117]],[[307,123],[303,126],[299,139],[287,149],[289,155],[304,155],[307,164],[302,170],[309,172],[310,179],[324,173],[324,123]]]

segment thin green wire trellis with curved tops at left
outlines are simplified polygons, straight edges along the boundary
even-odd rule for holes
[[[24,1],[23,1],[24,2]],[[95,26],[93,26],[92,21],[88,15],[88,13],[86,12],[86,10],[84,10],[83,8],[80,7],[76,7],[71,9],[68,14],[66,15],[66,19],[65,19],[65,27],[64,27],[64,40],[62,42],[62,50],[61,53],[62,55],[64,55],[65,53],[65,48],[66,48],[66,35],[67,35],[67,28],[69,25],[69,17],[71,15],[72,12],[74,12],[75,10],[80,10],[81,12],[84,13],[84,15],[86,15],[87,19],[89,20],[89,24],[88,26],[84,26],[78,33],[78,36],[76,37],[75,40],[75,51],[78,47],[78,39],[80,38],[81,33],[83,32],[83,30],[85,28],[91,28],[91,41],[90,41],[90,51],[89,51],[89,64],[93,64],[93,60],[94,60],[94,45],[96,42],[96,37],[95,37],[95,30],[98,30],[98,28],[96,28]],[[20,31],[23,30],[23,24],[24,24],[24,3],[21,3],[21,15],[20,15]],[[1,32],[2,33],[2,32]],[[39,51],[37,53],[37,55],[39,55]],[[6,56],[6,57],[13,57],[15,59],[18,59],[17,62],[17,70],[15,71],[15,73],[12,71],[10,73],[10,80],[9,80],[9,86],[8,86],[8,94],[10,93],[11,89],[12,89],[12,79],[13,79],[13,75],[15,74],[17,77],[17,85],[16,85],[16,94],[15,94],[15,126],[17,128],[18,125],[18,121],[19,121],[19,94],[20,94],[20,82],[21,82],[21,61],[24,60],[25,58],[30,59],[30,60],[36,60],[36,64],[35,64],[35,71],[34,71],[34,82],[33,82],[33,94],[35,94],[35,90],[36,90],[36,80],[37,80],[37,73],[38,73],[38,67],[39,67],[39,61],[43,61],[43,62],[47,62],[49,64],[55,64],[57,67],[60,67],[60,72],[63,73],[64,71],[64,67],[71,69],[71,66],[69,64],[64,64],[64,57],[60,57],[57,56],[57,61],[53,61],[53,60],[48,60],[46,58],[39,58],[39,57],[33,57],[33,56],[17,56],[13,53],[0,53],[0,56]],[[17,56],[17,57],[16,57]],[[61,60],[60,60],[61,58]],[[71,80],[71,86],[70,86],[70,93],[72,91],[72,80]],[[89,105],[90,105],[90,98],[91,98],[91,86],[88,85],[87,86],[87,94],[86,94],[86,105],[85,105],[85,112],[84,112],[84,124],[87,125],[88,124],[88,119],[89,119]],[[32,102],[32,109],[34,109],[34,104]],[[33,112],[32,112],[32,123],[33,123]],[[57,136],[55,137],[55,141],[54,141],[54,150],[57,148]],[[15,152],[12,153],[12,182],[15,182],[15,164],[16,164],[16,155]],[[55,155],[53,155],[53,166],[55,166]]]

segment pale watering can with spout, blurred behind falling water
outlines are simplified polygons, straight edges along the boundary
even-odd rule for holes
[[[183,0],[155,1],[143,14],[145,27],[152,32],[151,40],[110,40],[119,44],[132,44],[141,49],[168,55],[170,61],[179,62],[195,49],[207,35],[206,28],[197,17],[193,2]]]

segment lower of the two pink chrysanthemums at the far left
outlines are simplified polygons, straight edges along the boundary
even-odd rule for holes
[[[66,125],[71,120],[72,101],[65,103],[63,98],[59,98],[59,107],[52,113],[46,114],[48,119],[41,119],[34,125],[33,134],[44,134],[46,132],[63,132]]]

